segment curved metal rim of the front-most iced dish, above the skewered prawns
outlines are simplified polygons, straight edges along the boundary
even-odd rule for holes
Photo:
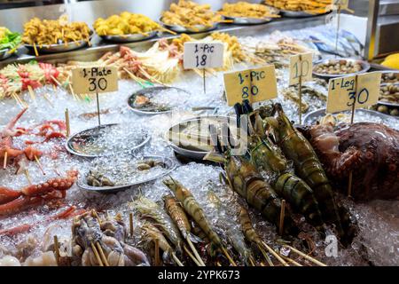
[[[116,185],[116,186],[91,186],[91,185],[87,185],[85,183],[85,178],[86,177],[80,177],[77,182],[76,185],[78,185],[80,188],[82,188],[83,190],[87,190],[90,192],[98,192],[98,193],[117,193],[120,191],[125,191],[128,190],[131,187],[137,186],[137,185],[143,185],[149,182],[152,182],[160,177],[165,177],[166,175],[168,175],[170,172],[172,172],[173,170],[176,169],[176,162],[173,162],[172,159],[168,158],[168,157],[164,157],[164,156],[158,156],[158,155],[151,155],[151,156],[144,156],[144,159],[157,159],[157,160],[162,160],[162,162],[165,163],[165,165],[167,166],[168,170],[166,170],[165,172],[156,175],[154,177],[149,177],[145,180],[141,180],[141,181],[137,181],[135,183],[129,184],[129,185]]]

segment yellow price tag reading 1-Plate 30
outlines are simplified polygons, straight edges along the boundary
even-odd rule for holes
[[[118,91],[118,69],[116,67],[82,67],[72,70],[74,92],[92,94]]]

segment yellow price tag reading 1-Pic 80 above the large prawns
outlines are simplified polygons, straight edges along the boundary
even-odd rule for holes
[[[242,102],[243,99],[254,103],[276,99],[278,96],[274,65],[227,72],[224,73],[223,79],[229,106],[234,106],[234,104]]]

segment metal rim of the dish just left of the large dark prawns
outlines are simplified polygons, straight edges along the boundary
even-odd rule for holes
[[[182,146],[176,145],[173,141],[170,140],[170,136],[169,133],[174,129],[174,128],[183,128],[185,129],[185,127],[187,127],[187,125],[191,122],[199,122],[201,119],[205,119],[205,118],[210,118],[210,119],[215,119],[217,120],[218,118],[221,118],[223,120],[226,120],[228,118],[233,119],[233,117],[229,117],[229,116],[224,116],[224,115],[204,115],[204,116],[198,116],[192,119],[187,119],[184,120],[183,122],[179,122],[176,123],[175,125],[173,125],[171,128],[169,128],[169,130],[165,133],[165,138],[168,142],[168,145],[172,147],[172,149],[178,153],[178,154],[182,154],[185,157],[188,158],[192,158],[195,160],[202,160],[205,155],[207,154],[207,151],[198,151],[198,150],[191,150],[191,149],[187,149],[184,148]]]

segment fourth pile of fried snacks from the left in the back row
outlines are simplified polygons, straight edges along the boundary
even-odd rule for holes
[[[279,18],[274,9],[262,4],[250,4],[246,2],[238,2],[235,4],[225,3],[219,14],[227,17],[240,18]]]

